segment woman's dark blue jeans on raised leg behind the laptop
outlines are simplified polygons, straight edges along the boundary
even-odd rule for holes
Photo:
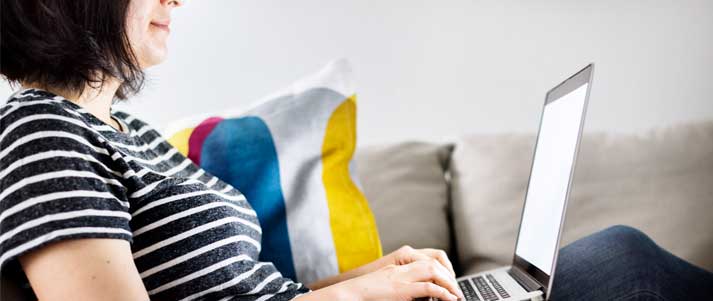
[[[560,250],[550,299],[713,300],[713,273],[613,226]]]

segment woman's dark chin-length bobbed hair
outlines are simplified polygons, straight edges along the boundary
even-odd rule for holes
[[[129,2],[0,0],[0,73],[75,93],[115,77],[115,99],[138,93],[145,75],[126,32]]]

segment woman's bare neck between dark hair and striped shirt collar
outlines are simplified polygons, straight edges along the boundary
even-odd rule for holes
[[[91,87],[87,85],[81,94],[72,92],[66,89],[54,87],[46,87],[34,83],[23,83],[25,88],[38,88],[62,96],[67,100],[74,102],[92,115],[107,124],[116,125],[117,123],[111,118],[111,105],[116,91],[119,90],[121,83],[117,80],[107,80],[101,87]]]

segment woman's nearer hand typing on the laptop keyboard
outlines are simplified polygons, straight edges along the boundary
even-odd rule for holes
[[[346,299],[359,301],[411,301],[421,297],[455,301],[464,298],[450,271],[436,259],[389,264],[327,289],[348,292]]]

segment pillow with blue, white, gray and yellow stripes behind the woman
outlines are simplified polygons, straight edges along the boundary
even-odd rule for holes
[[[164,131],[181,153],[245,194],[263,228],[260,260],[303,283],[382,255],[351,168],[351,80],[349,63],[333,61],[252,109],[195,116]]]

